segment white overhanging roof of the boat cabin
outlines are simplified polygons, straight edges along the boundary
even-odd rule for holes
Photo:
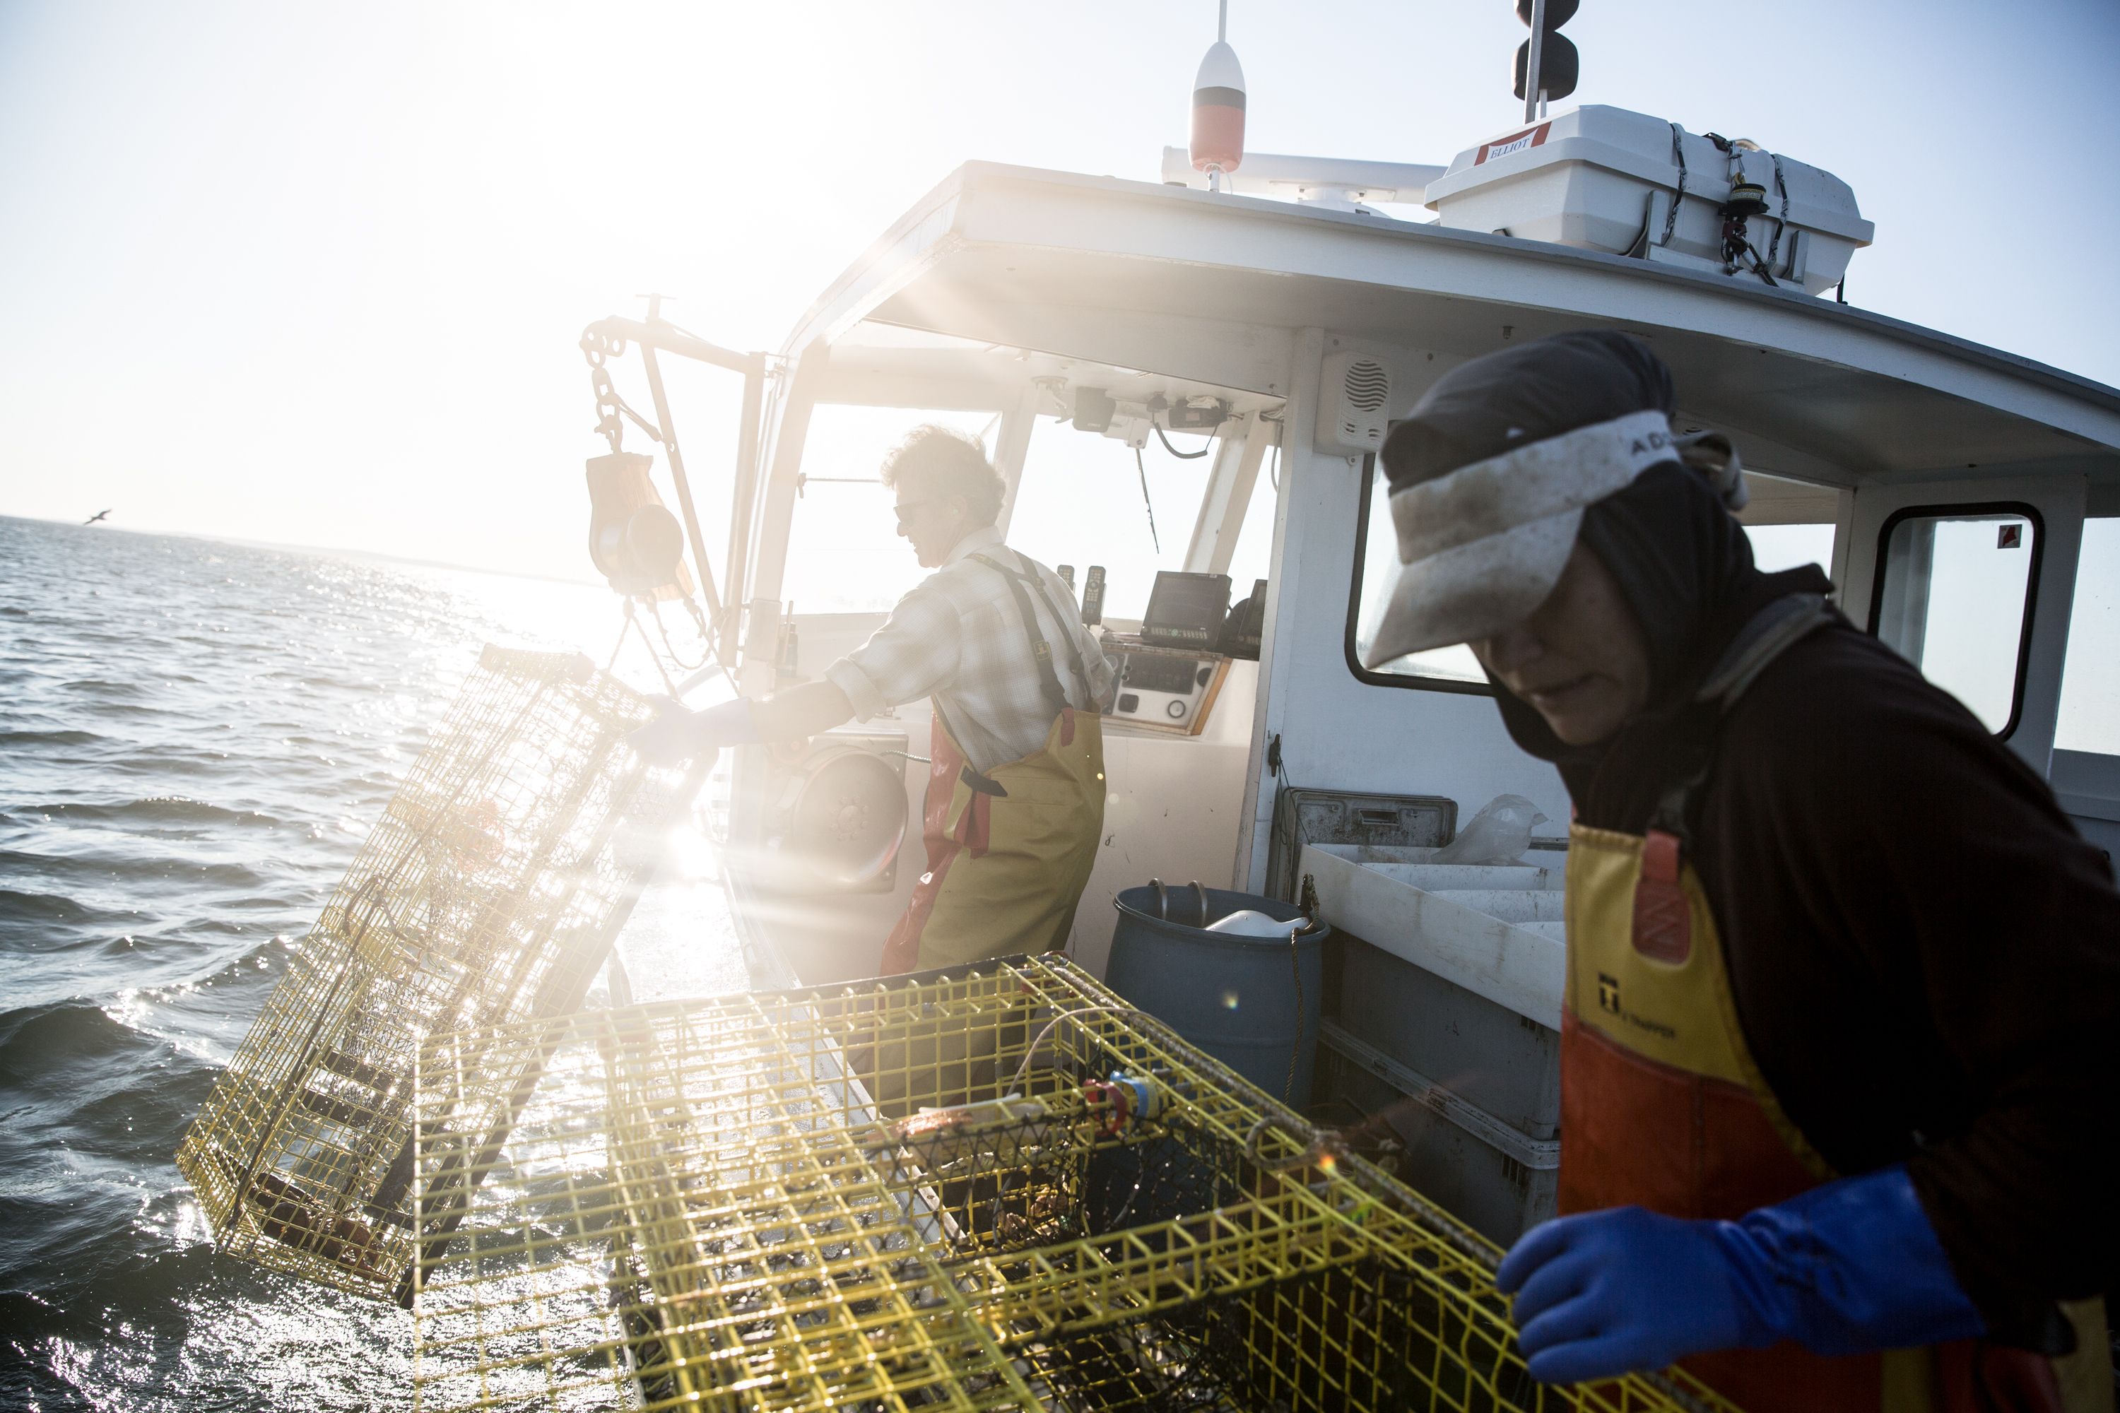
[[[946,407],[952,383],[1020,383],[1024,352],[1278,398],[1302,328],[1456,360],[1586,324],[1649,339],[1683,415],[1764,470],[2082,475],[2095,515],[2120,511],[2120,390],[2029,358],[1717,273],[1032,167],[952,172],[784,352],[827,398],[882,379]]]

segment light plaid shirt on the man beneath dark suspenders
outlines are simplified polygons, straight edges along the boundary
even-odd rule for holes
[[[971,555],[988,555],[1045,585],[1066,623],[1054,623],[1028,585],[1024,593],[1039,619],[1037,636],[1052,644],[1054,676],[1068,705],[1098,710],[1111,695],[1111,663],[1081,625],[1081,614],[1071,612],[1075,595],[1049,568],[1005,547],[994,527],[958,540],[943,566],[899,600],[869,642],[827,667],[825,676],[854,703],[859,720],[933,697],[971,769],[986,773],[1043,748],[1054,708],[1045,699],[1009,580]]]

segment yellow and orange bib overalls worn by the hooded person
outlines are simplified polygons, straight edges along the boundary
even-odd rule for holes
[[[1673,833],[1575,826],[1560,1013],[1560,1212],[1643,1205],[1734,1220],[1832,1180],[1745,1044],[1707,894]],[[1683,1360],[1747,1413],[2112,1405],[2103,1301],[2067,1305],[2078,1354],[1978,1341],[1825,1358],[1796,1343]]]

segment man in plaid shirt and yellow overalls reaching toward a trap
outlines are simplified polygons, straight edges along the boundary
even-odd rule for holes
[[[1105,824],[1111,665],[1060,576],[1001,542],[1003,481],[975,441],[922,426],[882,481],[899,534],[935,572],[823,680],[672,712],[640,748],[668,758],[801,739],[929,697],[929,869],[884,970],[1064,947]]]

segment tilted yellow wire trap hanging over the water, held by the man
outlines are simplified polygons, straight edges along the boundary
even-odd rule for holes
[[[479,655],[176,1152],[223,1250],[409,1299],[441,1231],[413,1227],[418,1057],[581,1006],[691,799],[625,746],[653,714],[585,657]],[[496,1055],[447,1121],[500,1144],[538,1063]]]

